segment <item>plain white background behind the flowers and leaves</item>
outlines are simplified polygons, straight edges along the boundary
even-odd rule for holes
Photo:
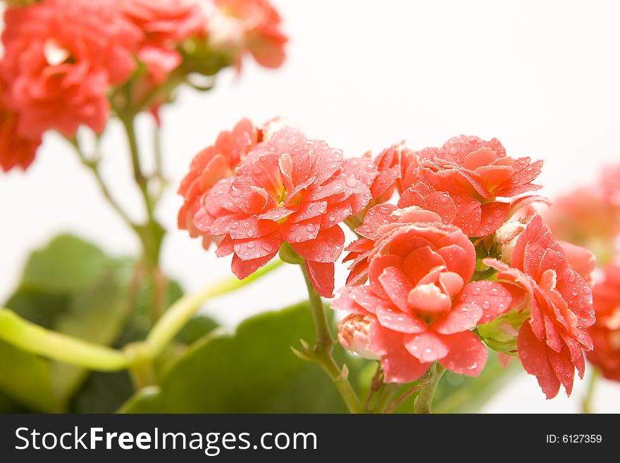
[[[513,156],[545,159],[540,181],[551,197],[593,181],[620,159],[620,8],[615,1],[273,0],[290,35],[276,71],[247,62],[221,75],[213,92],[180,92],[163,111],[166,171],[173,188],[157,211],[173,230],[163,266],[188,291],[230,275],[228,259],[202,251],[175,230],[174,194],[192,156],[243,116],[287,116],[349,156],[406,139],[437,146],[460,134],[497,137]],[[150,147],[149,119],[140,121]],[[104,175],[114,195],[140,214],[130,163],[115,124],[104,142]],[[70,231],[109,252],[137,252],[135,237],[99,195],[88,171],[59,137],[46,135],[27,173],[0,173],[0,300],[17,283],[27,252]],[[342,277],[342,275],[340,276]],[[206,311],[228,326],[248,314],[304,297],[296,271],[222,297]],[[545,401],[521,375],[485,412],[576,412],[571,399]],[[598,412],[620,412],[620,385],[604,383]]]

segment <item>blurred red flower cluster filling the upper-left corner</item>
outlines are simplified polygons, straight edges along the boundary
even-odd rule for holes
[[[213,18],[222,16],[231,19],[211,31]],[[46,130],[69,138],[80,125],[103,131],[112,90],[130,79],[135,80],[131,94],[123,93],[116,104],[156,109],[171,90],[156,91],[199,48],[183,47],[187,40],[217,53],[214,33],[238,35],[234,56],[205,71],[209,75],[239,66],[246,51],[268,67],[279,66],[285,56],[280,18],[266,0],[44,0],[9,6],[4,20],[0,100],[7,122],[0,164],[5,171],[26,168]]]

